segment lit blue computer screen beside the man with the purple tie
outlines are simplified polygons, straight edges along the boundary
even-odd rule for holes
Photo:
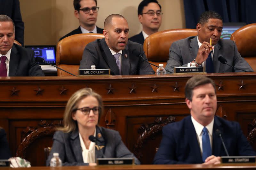
[[[35,52],[35,57],[42,57],[46,63],[56,65],[56,46],[55,45],[40,45],[40,46],[25,46]],[[39,63],[45,65],[45,63]]]

